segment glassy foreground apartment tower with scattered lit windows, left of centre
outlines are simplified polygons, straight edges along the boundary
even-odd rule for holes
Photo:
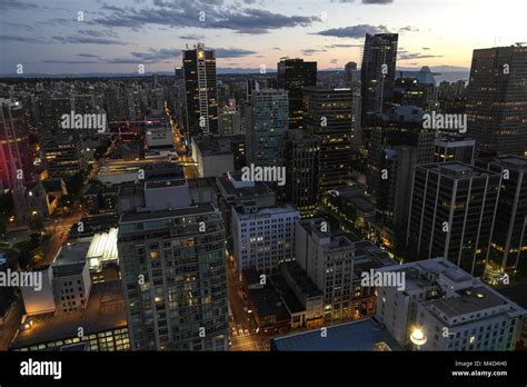
[[[226,237],[218,209],[125,212],[118,248],[133,350],[227,350]]]

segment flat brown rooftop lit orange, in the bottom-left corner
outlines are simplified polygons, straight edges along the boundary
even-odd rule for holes
[[[19,331],[10,348],[23,348],[37,344],[78,337],[79,327],[84,335],[125,328],[127,317],[120,281],[93,284],[86,310],[48,312],[31,316],[31,329]]]

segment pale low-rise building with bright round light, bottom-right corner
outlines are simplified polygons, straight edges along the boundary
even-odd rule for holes
[[[513,350],[525,309],[445,258],[381,268],[404,286],[377,286],[376,318],[405,348]]]

